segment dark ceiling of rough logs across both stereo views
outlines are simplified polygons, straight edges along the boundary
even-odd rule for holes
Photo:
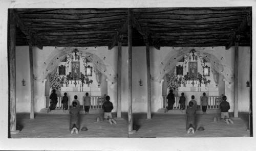
[[[250,46],[251,7],[11,9],[17,22],[16,45],[127,46],[131,10],[132,44],[144,46]]]

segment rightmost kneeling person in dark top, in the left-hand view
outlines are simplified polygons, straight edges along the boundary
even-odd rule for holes
[[[110,96],[106,96],[106,102],[103,103],[102,109],[104,110],[104,120],[108,120],[110,124],[114,122],[116,124],[116,121],[112,118],[112,110],[113,110],[113,104],[110,102]]]

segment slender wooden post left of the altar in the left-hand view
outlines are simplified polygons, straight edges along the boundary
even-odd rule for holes
[[[30,119],[34,119],[35,112],[35,88],[34,88],[34,68],[33,68],[33,47],[32,43],[29,42],[29,67],[30,67]]]

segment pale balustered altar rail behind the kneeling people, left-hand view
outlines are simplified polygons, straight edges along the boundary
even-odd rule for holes
[[[69,97],[69,96],[68,96]],[[83,96],[84,98],[85,96]],[[102,109],[102,105],[103,103],[105,102],[105,96],[90,96],[91,97],[91,106],[90,106],[90,109]],[[61,99],[62,99],[62,96],[58,96],[58,103],[56,104],[56,109],[62,109],[63,107],[63,104],[61,104]],[[73,99],[72,99],[73,101]],[[68,109],[70,109],[70,106],[71,103],[72,103],[70,97],[69,97],[69,106],[68,106]],[[80,105],[82,106],[82,108],[84,109],[84,106],[83,106],[83,100],[79,100],[80,102]],[[46,96],[46,99],[45,99],[45,108],[49,108],[50,107],[50,96]]]

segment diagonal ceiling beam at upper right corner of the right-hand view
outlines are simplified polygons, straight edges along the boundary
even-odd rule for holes
[[[248,15],[243,19],[243,22],[240,24],[238,29],[234,31],[232,34],[230,34],[230,40],[225,44],[226,45],[226,50],[228,50],[234,43],[234,40],[236,38],[236,35],[241,34],[245,29],[248,23],[251,20],[251,13],[248,13]]]

